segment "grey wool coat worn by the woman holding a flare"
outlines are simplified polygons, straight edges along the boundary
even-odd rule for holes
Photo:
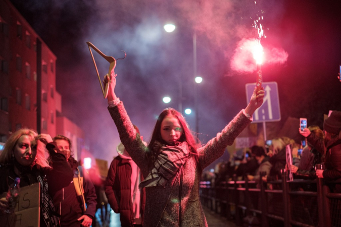
[[[121,142],[130,154],[133,161],[141,169],[143,177],[147,177],[149,170],[145,152],[139,134],[136,133],[122,102],[115,107],[108,107],[120,135]],[[245,129],[249,120],[242,111],[205,146],[198,149],[199,161],[191,155],[183,165],[182,190],[180,177],[170,179],[166,188],[145,188],[146,201],[144,208],[144,226],[208,226],[201,205],[199,183],[201,169],[207,167],[214,160],[223,155],[227,145],[232,145],[234,139]],[[179,198],[181,195],[181,198]],[[179,215],[179,202],[181,200],[181,215]],[[168,203],[167,203],[168,201]],[[179,217],[181,216],[181,220]]]

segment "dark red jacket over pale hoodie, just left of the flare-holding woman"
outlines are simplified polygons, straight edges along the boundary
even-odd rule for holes
[[[122,226],[143,224],[145,190],[138,185],[144,178],[122,143],[117,146],[117,153],[105,182],[108,202],[115,213],[120,213]]]

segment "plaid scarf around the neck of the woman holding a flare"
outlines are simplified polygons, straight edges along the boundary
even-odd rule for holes
[[[159,143],[159,142],[156,142]],[[156,144],[158,147],[158,144]],[[188,160],[188,145],[186,142],[175,146],[162,145],[159,155],[154,162],[154,167],[139,185],[139,188],[162,186],[166,187],[168,181],[176,175],[180,167]]]

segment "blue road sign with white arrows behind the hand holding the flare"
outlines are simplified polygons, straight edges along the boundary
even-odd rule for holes
[[[280,121],[280,108],[277,83],[263,82],[262,86],[264,87],[265,91],[264,102],[252,116],[254,118],[254,121],[252,123]],[[247,103],[249,103],[255,87],[256,83],[245,85],[247,93]]]

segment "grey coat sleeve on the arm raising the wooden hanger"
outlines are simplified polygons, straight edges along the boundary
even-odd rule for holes
[[[141,169],[142,173],[148,170],[148,160],[145,155],[146,146],[140,135],[134,129],[122,101],[114,107],[108,107],[110,115],[115,122],[122,144],[131,156],[131,159]]]

